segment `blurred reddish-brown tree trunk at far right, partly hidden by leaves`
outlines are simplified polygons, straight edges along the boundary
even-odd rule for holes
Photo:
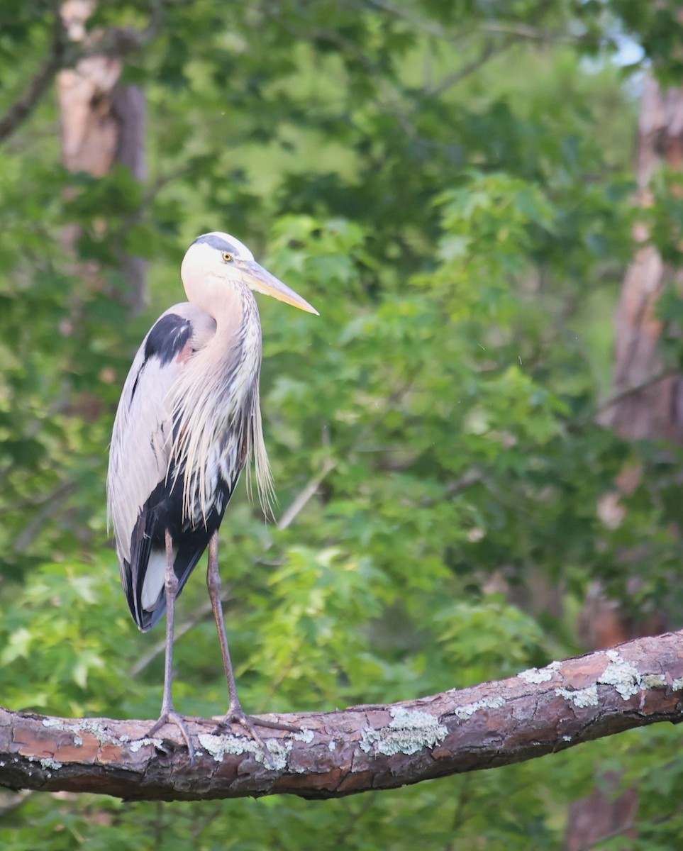
[[[638,146],[635,176],[641,206],[651,203],[650,181],[664,163],[683,168],[683,89],[660,89],[654,77],[648,77],[640,100]],[[637,226],[634,237],[646,243],[645,226]],[[667,279],[679,286],[683,273],[664,265],[657,248],[643,244],[623,280],[617,311],[613,402],[601,420],[626,440],[683,440],[683,380],[674,370],[665,370],[659,340],[663,322],[657,317],[657,301]],[[621,497],[640,483],[638,467],[624,469],[617,490],[606,494],[600,505],[600,517],[607,525],[623,522],[625,511]],[[583,612],[584,646],[601,648],[627,638],[651,635],[666,628],[663,615],[653,613],[649,622],[627,623],[623,611],[608,599],[595,583]],[[638,809],[635,789],[616,797],[617,778],[597,774],[596,788],[570,808],[566,851],[586,851],[596,842],[617,832],[632,835],[630,825]],[[618,784],[617,784],[618,785]]]

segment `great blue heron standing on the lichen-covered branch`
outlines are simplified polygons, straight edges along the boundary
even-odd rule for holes
[[[198,237],[182,261],[189,302],[170,307],[135,356],[118,404],[107,476],[121,581],[145,632],[166,612],[164,700],[158,722],[192,742],[171,694],[175,599],[209,545],[207,585],[227,678],[224,723],[261,742],[240,705],[221,607],[218,527],[253,457],[261,504],[272,484],[261,431],[261,323],[252,290],[318,313],[227,233]],[[282,726],[266,724],[266,726]],[[262,745],[262,742],[261,742]]]

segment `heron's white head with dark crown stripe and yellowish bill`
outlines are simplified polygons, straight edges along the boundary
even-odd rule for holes
[[[225,288],[249,287],[318,315],[301,295],[259,266],[249,248],[229,233],[213,231],[197,237],[183,258],[181,278],[187,298],[209,313]]]

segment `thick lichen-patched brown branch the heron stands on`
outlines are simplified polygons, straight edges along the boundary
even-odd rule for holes
[[[274,716],[269,716],[274,720]],[[683,720],[683,633],[640,638],[517,677],[393,705],[290,714],[267,730],[273,768],[244,735],[188,719],[146,738],[150,721],[64,719],[0,710],[0,784],[129,800],[290,793],[342,797],[495,768],[635,727]]]

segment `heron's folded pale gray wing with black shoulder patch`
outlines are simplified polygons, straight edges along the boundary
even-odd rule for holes
[[[187,360],[214,334],[214,320],[197,306],[183,303],[169,308],[142,341],[123,386],[109,454],[107,505],[129,600],[132,586],[144,578],[149,558],[149,548],[145,553],[143,546],[131,563],[132,550],[141,549],[141,542],[134,540],[144,528],[138,521],[168,471],[175,382]]]

